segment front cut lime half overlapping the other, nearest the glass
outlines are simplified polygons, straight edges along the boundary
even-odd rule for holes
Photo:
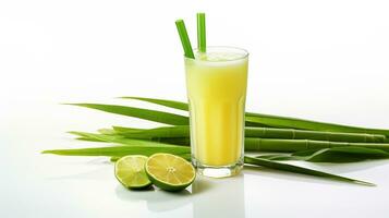
[[[191,162],[171,154],[154,154],[148,158],[145,168],[151,182],[166,191],[184,190],[196,177]]]

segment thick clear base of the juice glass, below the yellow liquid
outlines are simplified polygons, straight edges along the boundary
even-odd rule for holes
[[[210,178],[233,177],[239,174],[243,168],[243,161],[238,161],[235,165],[229,166],[207,166],[202,165],[195,158],[192,158],[192,164],[194,165],[198,174]]]

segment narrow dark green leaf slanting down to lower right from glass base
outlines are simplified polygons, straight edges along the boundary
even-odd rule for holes
[[[260,167],[266,167],[266,168],[287,171],[287,172],[308,174],[308,175],[321,177],[321,178],[327,178],[327,179],[342,181],[342,182],[351,182],[351,183],[355,183],[355,184],[375,186],[375,184],[369,183],[369,182],[355,180],[355,179],[351,179],[351,178],[345,178],[345,177],[341,177],[341,175],[337,175],[337,174],[331,174],[328,172],[313,170],[309,168],[299,167],[299,166],[294,166],[294,165],[288,165],[288,164],[283,164],[283,162],[277,162],[277,161],[272,161],[272,160],[262,159],[262,158],[245,156],[244,162],[246,165],[260,166]]]

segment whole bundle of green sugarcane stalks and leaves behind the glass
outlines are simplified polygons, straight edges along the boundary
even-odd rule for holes
[[[189,109],[187,104],[180,101],[141,97],[123,98],[143,100],[184,111],[187,111]],[[155,153],[163,152],[179,155],[186,159],[191,158],[187,116],[117,105],[71,105],[139,118],[163,123],[168,126],[155,129],[112,126],[111,129],[102,129],[99,133],[71,132],[72,134],[77,135],[78,140],[114,143],[119,146],[56,149],[45,150],[44,153],[70,156],[108,156],[111,157],[111,160],[116,160],[125,155],[135,154],[149,156]],[[365,159],[388,158],[389,142],[387,136],[389,136],[389,130],[356,128],[246,112],[244,141],[246,152],[277,152],[291,154],[266,154],[254,157],[245,156],[244,161],[247,165],[370,184],[279,161],[305,160],[350,162]]]

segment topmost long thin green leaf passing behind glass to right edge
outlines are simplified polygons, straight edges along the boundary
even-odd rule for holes
[[[124,97],[138,99],[147,102],[153,102],[157,105],[162,105],[170,108],[175,108],[180,110],[187,110],[187,104],[166,100],[166,99],[155,99],[155,98],[142,98],[142,97]],[[290,117],[270,116],[264,113],[246,112],[246,124],[257,123],[273,128],[292,128],[300,130],[317,130],[317,131],[332,131],[332,132],[349,132],[349,133],[370,133],[370,134],[381,134],[389,136],[389,130],[381,129],[366,129],[351,125],[341,125],[336,123],[326,123],[312,120],[304,120]]]

